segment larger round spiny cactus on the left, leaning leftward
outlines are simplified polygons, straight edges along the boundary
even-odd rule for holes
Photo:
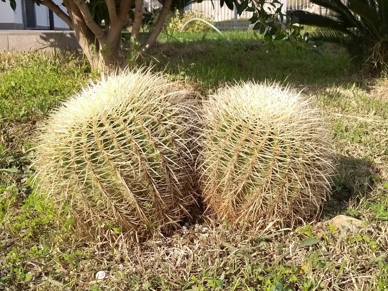
[[[40,189],[95,233],[107,225],[149,233],[179,220],[194,202],[193,102],[177,85],[140,69],[65,101],[40,129]]]

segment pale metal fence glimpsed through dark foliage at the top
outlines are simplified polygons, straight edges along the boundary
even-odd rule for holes
[[[302,9],[315,12],[321,15],[326,15],[327,11],[321,6],[311,4],[309,0],[281,0],[285,9]],[[213,7],[213,4],[214,7]],[[151,11],[153,8],[160,7],[160,2],[157,0],[145,0],[144,6]],[[185,7],[185,11],[201,12],[205,16],[214,21],[214,25],[218,29],[247,29],[249,27],[248,19],[252,17],[252,12],[243,12],[242,15],[237,14],[236,8],[230,10],[224,5],[220,7],[220,0],[203,0],[201,3],[193,3]]]

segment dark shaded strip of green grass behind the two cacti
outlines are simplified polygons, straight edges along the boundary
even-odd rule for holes
[[[337,47],[327,45],[323,57],[289,45],[282,54],[277,49],[270,52],[266,49],[260,40],[216,37],[175,41],[159,44],[151,51],[153,57],[147,63],[156,65],[156,70],[189,77],[207,89],[235,80],[279,81],[298,88],[356,81],[349,57]]]

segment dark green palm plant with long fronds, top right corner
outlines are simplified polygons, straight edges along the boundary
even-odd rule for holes
[[[347,49],[366,68],[386,70],[388,63],[388,5],[386,0],[310,0],[330,11],[329,16],[289,10],[301,25],[315,26],[308,39],[334,43]]]

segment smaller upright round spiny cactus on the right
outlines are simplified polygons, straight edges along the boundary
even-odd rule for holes
[[[210,209],[250,226],[317,216],[334,166],[309,101],[277,84],[243,83],[204,102],[198,164]]]

